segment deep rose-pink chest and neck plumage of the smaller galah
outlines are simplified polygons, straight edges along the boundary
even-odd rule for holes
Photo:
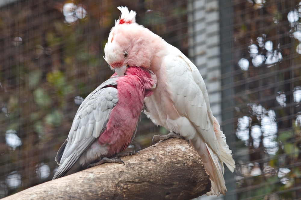
[[[110,112],[106,129],[98,137],[98,143],[106,144],[108,148],[107,157],[125,150],[136,129],[145,97],[145,83],[141,76],[150,76],[145,70],[139,69],[138,72],[140,74],[126,75],[116,81],[118,102]]]

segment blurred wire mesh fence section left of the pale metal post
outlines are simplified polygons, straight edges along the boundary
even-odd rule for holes
[[[185,1],[23,0],[0,8],[0,198],[52,179],[79,104],[113,74],[104,45],[120,5],[187,54]],[[166,132],[143,116],[130,148]]]

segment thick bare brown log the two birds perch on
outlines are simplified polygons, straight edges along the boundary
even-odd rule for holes
[[[200,156],[185,140],[168,139],[140,154],[8,196],[16,199],[191,199],[210,191]]]

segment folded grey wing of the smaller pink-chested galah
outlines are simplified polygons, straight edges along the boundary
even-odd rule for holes
[[[59,167],[53,179],[64,176],[82,153],[105,130],[110,111],[118,102],[117,89],[105,87],[117,85],[112,77],[98,86],[85,98],[74,117],[67,140],[57,152]]]

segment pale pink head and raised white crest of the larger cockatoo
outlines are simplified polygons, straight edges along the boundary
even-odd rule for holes
[[[121,16],[109,34],[104,59],[119,76],[123,76],[127,67],[150,67],[153,57],[151,34],[160,37],[135,22],[135,11],[129,11],[127,7],[118,9]]]

